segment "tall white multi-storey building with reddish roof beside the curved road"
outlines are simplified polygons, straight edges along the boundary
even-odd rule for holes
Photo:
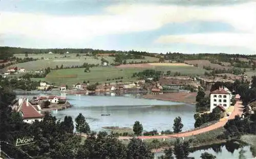
[[[210,93],[210,112],[218,105],[229,108],[232,94],[227,88],[219,88]]]

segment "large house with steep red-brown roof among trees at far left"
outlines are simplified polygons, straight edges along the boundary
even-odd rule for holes
[[[42,121],[44,115],[41,114],[41,107],[39,105],[32,105],[28,98],[19,98],[18,102],[14,104],[12,110],[19,112],[26,123],[33,123],[35,120]]]

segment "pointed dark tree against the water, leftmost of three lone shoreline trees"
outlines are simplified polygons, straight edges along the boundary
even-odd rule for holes
[[[75,119],[76,122],[76,131],[80,133],[89,133],[90,132],[90,126],[86,122],[86,118],[83,117],[82,113],[79,113],[79,115]]]

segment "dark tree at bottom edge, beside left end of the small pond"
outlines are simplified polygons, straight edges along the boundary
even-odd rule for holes
[[[179,138],[176,139],[174,145],[174,154],[177,159],[184,159],[189,154],[189,143],[181,142]]]

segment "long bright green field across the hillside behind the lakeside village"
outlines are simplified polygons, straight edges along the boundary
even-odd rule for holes
[[[47,82],[59,84],[72,85],[77,82],[82,82],[84,80],[95,82],[115,82],[116,79],[113,78],[123,77],[122,81],[135,80],[132,77],[133,73],[146,70],[148,68],[116,68],[114,66],[105,67],[92,67],[89,73],[84,73],[84,69],[65,69],[65,70],[54,70],[51,71],[45,78]],[[199,69],[197,67],[191,66],[155,66],[156,70],[161,71],[172,71],[180,72],[183,74],[204,74],[205,70]],[[111,79],[111,81],[107,81]],[[36,79],[39,80],[39,79]],[[118,80],[119,81],[119,80]]]

